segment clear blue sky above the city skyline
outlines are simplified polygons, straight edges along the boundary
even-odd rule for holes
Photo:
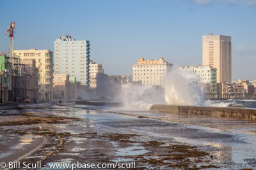
[[[91,42],[106,74],[132,73],[140,57],[175,67],[202,64],[202,36],[232,37],[232,80],[256,79],[256,0],[0,0],[0,51],[15,21],[15,50],[54,50],[70,35]],[[1,33],[2,32],[2,33]]]

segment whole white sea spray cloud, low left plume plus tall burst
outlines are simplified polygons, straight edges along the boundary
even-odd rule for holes
[[[152,104],[195,105],[204,103],[200,78],[186,71],[172,71],[163,77],[162,87],[141,84],[122,90],[124,108],[149,109]]]

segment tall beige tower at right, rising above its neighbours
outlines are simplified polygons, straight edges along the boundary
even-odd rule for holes
[[[217,69],[217,83],[231,83],[231,37],[203,36],[203,66]]]

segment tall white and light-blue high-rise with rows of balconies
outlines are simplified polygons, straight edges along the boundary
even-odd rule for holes
[[[60,36],[54,41],[55,74],[70,74],[82,85],[90,82],[90,42],[76,41],[71,36]]]

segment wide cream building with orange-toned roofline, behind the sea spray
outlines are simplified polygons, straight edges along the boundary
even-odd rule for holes
[[[173,64],[166,62],[163,57],[158,60],[140,58],[133,66],[133,81],[141,81],[143,85],[162,85],[164,75],[172,70]]]

